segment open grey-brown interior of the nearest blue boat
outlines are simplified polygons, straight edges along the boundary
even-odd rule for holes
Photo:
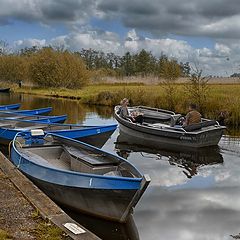
[[[17,143],[23,157],[47,167],[97,175],[140,177],[127,162],[104,152],[55,141],[26,145],[24,139],[19,138]]]

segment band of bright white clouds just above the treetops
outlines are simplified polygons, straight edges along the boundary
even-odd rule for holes
[[[14,48],[43,47],[49,44],[64,46],[72,51],[92,48],[118,55],[123,55],[127,51],[136,53],[145,49],[157,57],[166,54],[179,62],[190,62],[192,65],[197,65],[199,69],[203,69],[205,74],[211,75],[230,75],[238,71],[238,62],[240,61],[240,44],[234,41],[216,43],[213,49],[206,47],[198,49],[182,40],[143,38],[138,36],[134,29],[127,33],[124,40],[121,40],[114,32],[84,29],[58,36],[48,42],[44,39],[18,40],[14,43]]]

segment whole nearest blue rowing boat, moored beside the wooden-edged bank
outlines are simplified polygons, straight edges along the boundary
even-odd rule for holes
[[[125,222],[150,183],[124,158],[83,142],[32,130],[13,140],[11,160],[60,205]]]

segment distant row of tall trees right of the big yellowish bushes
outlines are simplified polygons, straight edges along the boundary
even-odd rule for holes
[[[76,54],[84,60],[89,70],[105,69],[108,70],[109,75],[112,74],[116,77],[163,77],[166,64],[177,66],[179,77],[189,76],[191,70],[189,62],[178,63],[176,59],[169,59],[164,54],[155,57],[152,52],[144,49],[135,54],[126,52],[123,56],[94,49],[82,49]]]

